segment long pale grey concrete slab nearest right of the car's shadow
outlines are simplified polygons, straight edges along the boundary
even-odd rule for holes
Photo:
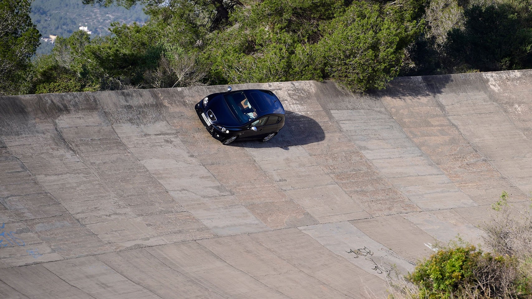
[[[420,209],[476,205],[446,178],[389,114],[379,110],[331,113],[364,156]],[[434,177],[439,180],[437,188]]]

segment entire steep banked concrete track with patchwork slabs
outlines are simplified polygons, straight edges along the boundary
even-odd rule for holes
[[[532,190],[532,71],[273,90],[268,143],[223,146],[226,86],[0,97],[1,298],[383,297],[436,241],[482,243]]]

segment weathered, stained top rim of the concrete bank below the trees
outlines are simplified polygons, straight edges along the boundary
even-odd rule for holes
[[[364,95],[353,94],[336,82],[289,81],[177,87],[161,89],[129,89],[84,93],[38,94],[0,97],[0,115],[27,114],[41,118],[57,118],[59,115],[80,111],[142,110],[145,107],[193,105],[208,94],[223,92],[227,86],[233,90],[264,88],[271,89],[281,98],[296,93],[313,94],[325,98],[324,102],[375,101],[382,96],[426,96],[428,94],[455,94],[467,90],[483,94],[505,92],[516,85],[528,88],[532,70],[500,71],[485,73],[446,74],[421,77],[397,77],[387,89]],[[332,105],[334,106],[334,105]],[[352,107],[351,107],[352,106]],[[347,106],[356,109],[356,104]]]

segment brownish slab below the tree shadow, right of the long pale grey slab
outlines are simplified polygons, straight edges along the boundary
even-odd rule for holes
[[[401,88],[403,95],[383,94],[383,104],[405,134],[473,201],[492,203],[502,190],[515,190],[515,199],[525,200],[526,195],[517,192],[513,182],[503,177],[447,119],[446,107],[430,92],[433,81],[431,77],[397,78],[390,85]]]

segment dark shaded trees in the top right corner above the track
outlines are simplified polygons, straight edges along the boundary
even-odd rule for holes
[[[427,22],[402,76],[532,68],[529,1],[431,0]]]

